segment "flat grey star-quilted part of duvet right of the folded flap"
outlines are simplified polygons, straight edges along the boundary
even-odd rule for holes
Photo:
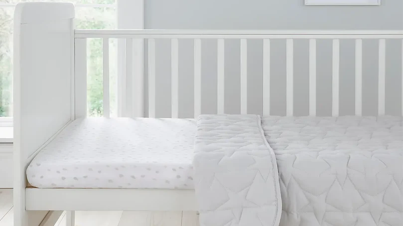
[[[280,226],[402,226],[402,117],[266,117]]]

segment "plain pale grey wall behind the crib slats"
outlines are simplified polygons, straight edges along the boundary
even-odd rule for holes
[[[146,0],[146,29],[403,29],[403,1],[305,6],[303,0]],[[239,40],[225,43],[226,113],[240,112]],[[261,40],[248,40],[249,112],[262,114]],[[354,114],[354,40],[340,43],[340,113]],[[401,40],[387,40],[387,114],[401,114]],[[317,41],[317,113],[331,114],[331,40]],[[170,41],[156,42],[157,117],[170,116]],[[363,42],[363,114],[378,106],[378,42]],[[285,114],[285,40],[271,42],[271,114]],[[146,56],[147,57],[147,56]],[[179,42],[180,117],[193,117],[193,41]],[[146,65],[147,67],[147,65]],[[294,41],[294,109],[307,115],[308,40]],[[217,42],[202,40],[202,113],[216,113]]]

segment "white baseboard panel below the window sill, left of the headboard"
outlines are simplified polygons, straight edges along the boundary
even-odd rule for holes
[[[0,144],[0,188],[12,188],[12,144]]]

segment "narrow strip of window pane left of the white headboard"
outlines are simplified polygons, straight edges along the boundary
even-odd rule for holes
[[[12,116],[12,7],[0,8],[0,117]]]

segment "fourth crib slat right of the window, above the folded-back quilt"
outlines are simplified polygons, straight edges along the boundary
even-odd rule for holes
[[[217,113],[224,114],[224,39],[217,43]]]

